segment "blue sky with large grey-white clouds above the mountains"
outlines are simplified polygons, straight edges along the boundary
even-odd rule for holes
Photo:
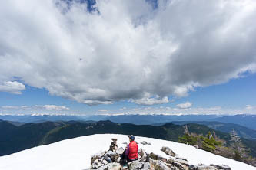
[[[256,114],[254,0],[10,0],[1,114]]]

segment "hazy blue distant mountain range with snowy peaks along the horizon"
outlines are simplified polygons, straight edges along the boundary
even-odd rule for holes
[[[95,115],[95,116],[52,116],[52,115],[0,115],[0,119],[20,122],[20,123],[40,123],[45,121],[100,121],[110,120],[115,123],[133,123],[136,125],[151,125],[155,123],[170,123],[177,121],[207,121],[207,122],[221,122],[234,123],[249,129],[256,129],[256,115],[234,115],[234,116],[220,116],[220,115]]]

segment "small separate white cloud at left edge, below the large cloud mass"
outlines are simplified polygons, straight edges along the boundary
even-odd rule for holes
[[[0,91],[2,92],[21,94],[22,90],[25,90],[25,85],[23,83],[19,83],[17,81],[4,81],[1,84],[1,81],[0,81]]]

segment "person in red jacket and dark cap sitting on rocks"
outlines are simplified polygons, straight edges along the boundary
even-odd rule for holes
[[[129,137],[129,145],[126,147],[125,151],[121,155],[121,160],[124,161],[125,159],[127,162],[132,162],[138,160],[138,145],[135,142],[135,136],[128,136]]]

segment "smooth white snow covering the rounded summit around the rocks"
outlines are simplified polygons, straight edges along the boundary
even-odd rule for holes
[[[82,170],[90,168],[91,155],[104,152],[109,149],[111,138],[118,139],[118,146],[125,148],[124,142],[128,143],[125,135],[101,134],[83,136],[75,139],[67,139],[55,142],[50,145],[42,145],[12,155],[0,157],[0,169],[3,170]],[[179,157],[188,159],[190,164],[197,165],[229,165],[232,170],[256,170],[251,165],[242,162],[226,159],[219,155],[196,149],[191,145],[178,142],[165,141],[145,137],[135,137],[138,147],[145,149],[146,152],[154,152],[165,158],[169,158],[161,152],[162,146],[170,147]],[[150,142],[151,145],[142,145],[140,142]]]

